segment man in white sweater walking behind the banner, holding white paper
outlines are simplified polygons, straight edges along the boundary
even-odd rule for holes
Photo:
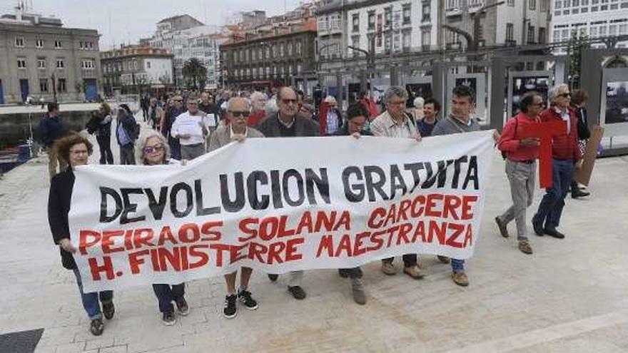
[[[205,153],[205,138],[208,134],[205,114],[198,111],[198,99],[188,98],[188,111],[176,117],[170,131],[181,143],[181,158],[192,160]]]

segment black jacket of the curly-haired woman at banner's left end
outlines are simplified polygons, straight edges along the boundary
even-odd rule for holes
[[[70,200],[74,188],[74,173],[70,168],[55,175],[50,182],[48,195],[48,223],[54,243],[59,245],[61,239],[70,238],[70,226],[68,213],[70,212]],[[61,262],[68,270],[76,268],[74,257],[69,252],[61,249]]]

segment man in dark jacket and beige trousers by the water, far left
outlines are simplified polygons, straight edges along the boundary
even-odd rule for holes
[[[65,133],[64,123],[59,117],[59,103],[48,103],[48,113],[44,114],[44,118],[39,123],[39,134],[41,143],[44,144],[46,153],[48,153],[48,173],[51,179],[57,173],[57,165],[59,165],[59,173],[66,170],[68,166],[63,159],[59,158],[56,150],[52,148],[55,141],[59,140]]]

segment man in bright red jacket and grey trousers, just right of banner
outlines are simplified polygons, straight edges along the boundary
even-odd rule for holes
[[[506,157],[506,175],[510,182],[512,206],[502,215],[495,217],[495,222],[500,228],[502,237],[509,237],[507,225],[515,220],[519,250],[525,254],[532,254],[525,227],[525,210],[532,205],[535,197],[540,140],[521,138],[521,131],[529,130],[530,126],[541,122],[539,113],[543,109],[543,98],[536,92],[525,93],[519,107],[521,112],[506,123],[502,137],[497,143],[497,148],[505,153]]]

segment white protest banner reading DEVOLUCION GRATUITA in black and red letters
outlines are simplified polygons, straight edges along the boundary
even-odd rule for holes
[[[412,252],[466,259],[492,145],[492,131],[420,142],[251,138],[185,166],[80,166],[74,259],[86,292],[240,266],[283,273]]]

